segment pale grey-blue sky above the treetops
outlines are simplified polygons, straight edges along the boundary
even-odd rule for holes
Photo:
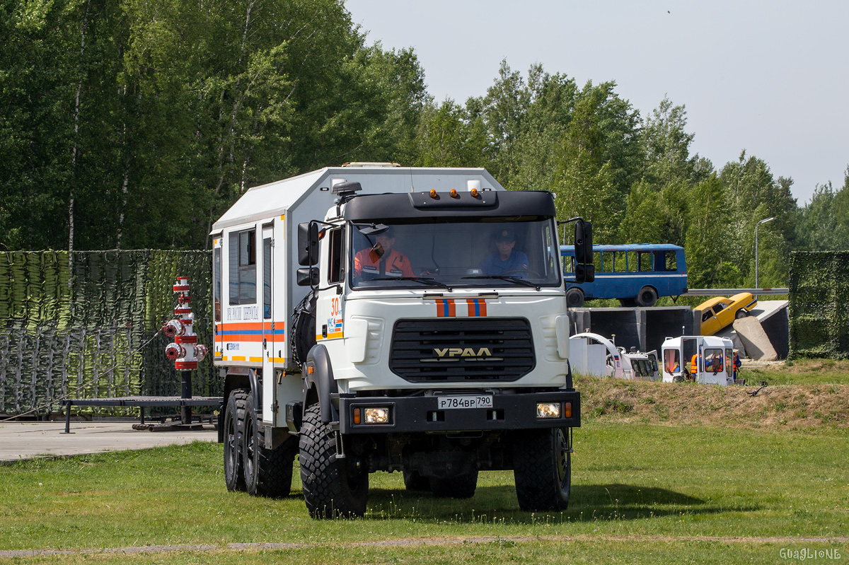
[[[849,2],[346,0],[367,41],[412,47],[437,101],[483,96],[507,59],[579,87],[616,81],[645,117],[686,106],[691,150],[719,170],[740,151],[814,187],[849,165]]]

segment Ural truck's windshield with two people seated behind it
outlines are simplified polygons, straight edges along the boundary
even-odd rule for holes
[[[368,236],[358,229],[364,224],[351,230],[351,288],[538,288],[563,282],[550,218],[375,224],[388,229]]]

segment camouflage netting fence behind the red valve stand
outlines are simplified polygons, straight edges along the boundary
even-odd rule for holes
[[[65,395],[179,395],[168,339],[150,339],[173,317],[180,275],[190,277],[199,342],[211,346],[210,273],[207,251],[0,253],[0,413],[55,413]],[[196,395],[221,394],[211,361],[192,384]]]

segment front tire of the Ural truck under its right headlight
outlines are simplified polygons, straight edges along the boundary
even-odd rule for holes
[[[527,430],[513,444],[513,476],[526,512],[565,510],[572,487],[571,453],[564,428]]]

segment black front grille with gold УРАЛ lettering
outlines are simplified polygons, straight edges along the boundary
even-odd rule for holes
[[[509,382],[536,366],[524,318],[399,320],[389,367],[411,383]]]

